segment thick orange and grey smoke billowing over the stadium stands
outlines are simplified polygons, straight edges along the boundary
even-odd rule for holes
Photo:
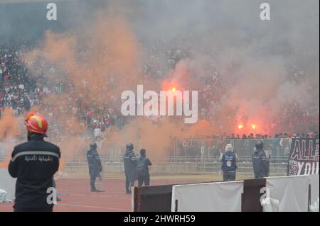
[[[253,0],[70,2],[61,18],[57,2],[55,26],[46,28],[48,21],[38,22],[42,31],[34,47],[21,56],[33,78],[68,84],[61,94],[48,94],[33,107],[46,115],[53,113],[54,123],[70,131],[68,140],[60,143],[65,158],[87,148],[87,142],[78,139],[87,127],[75,109],[85,104],[119,111],[122,91],[136,92],[138,84],[145,90],[173,86],[197,90],[200,95],[206,93],[201,98],[207,100],[199,105],[199,119],[193,125],[184,124],[181,117],[158,123],[130,118],[121,130],[112,128],[107,133],[102,152],[133,142],[159,156],[170,149],[174,137],[319,130],[319,119],[313,119],[319,118],[319,1],[267,1],[270,21],[260,20],[263,1]],[[36,24],[19,34],[6,21],[6,13],[0,12],[1,30],[6,31],[1,37],[34,36]],[[65,23],[60,21],[64,19]],[[23,23],[31,26],[27,20]],[[57,23],[64,26],[58,29]],[[174,55],[171,67],[168,55]],[[151,65],[148,73],[145,62]],[[296,106],[299,114],[312,121],[279,128],[275,122],[289,106]],[[10,125],[10,136],[15,136],[17,127],[8,110],[4,115],[2,140],[8,137],[2,128]],[[255,124],[257,129],[240,131],[239,124]]]

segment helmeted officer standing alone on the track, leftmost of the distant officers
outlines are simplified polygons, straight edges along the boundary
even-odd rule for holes
[[[90,150],[87,151],[87,164],[89,166],[91,191],[100,192],[95,188],[95,179],[100,176],[102,164],[99,154],[97,153],[97,143],[95,142],[90,144]]]

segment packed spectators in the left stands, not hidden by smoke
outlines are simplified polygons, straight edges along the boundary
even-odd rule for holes
[[[28,69],[26,62],[23,59],[23,51],[26,50],[25,45],[6,45],[0,47],[0,118],[4,108],[12,108],[16,115],[20,115],[29,111],[33,106],[43,107],[44,112],[48,113],[49,123],[53,127],[57,126],[54,113],[65,113],[72,111],[80,118],[81,125],[84,123],[90,128],[100,127],[105,130],[110,125],[121,126],[121,118],[119,113],[108,106],[88,106],[78,100],[73,100],[78,103],[78,108],[59,109],[43,103],[41,100],[46,98],[53,92],[60,94],[64,89],[70,89],[70,84],[65,83],[62,79],[55,79],[50,84],[46,81],[46,77],[34,74],[33,72],[43,71],[43,69],[33,69],[32,72]],[[40,67],[45,67],[43,64]],[[50,67],[49,70],[55,70]],[[69,97],[70,98],[70,97]],[[63,104],[61,103],[61,106]]]

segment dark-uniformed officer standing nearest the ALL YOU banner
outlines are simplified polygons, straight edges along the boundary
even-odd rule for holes
[[[252,165],[255,179],[269,176],[270,159],[265,154],[262,140],[255,142],[255,152],[252,153]]]

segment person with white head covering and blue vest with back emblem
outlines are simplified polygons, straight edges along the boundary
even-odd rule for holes
[[[225,146],[225,152],[220,155],[219,160],[222,162],[223,181],[235,181],[236,162],[239,159],[238,155],[233,151],[233,145],[228,144]]]

